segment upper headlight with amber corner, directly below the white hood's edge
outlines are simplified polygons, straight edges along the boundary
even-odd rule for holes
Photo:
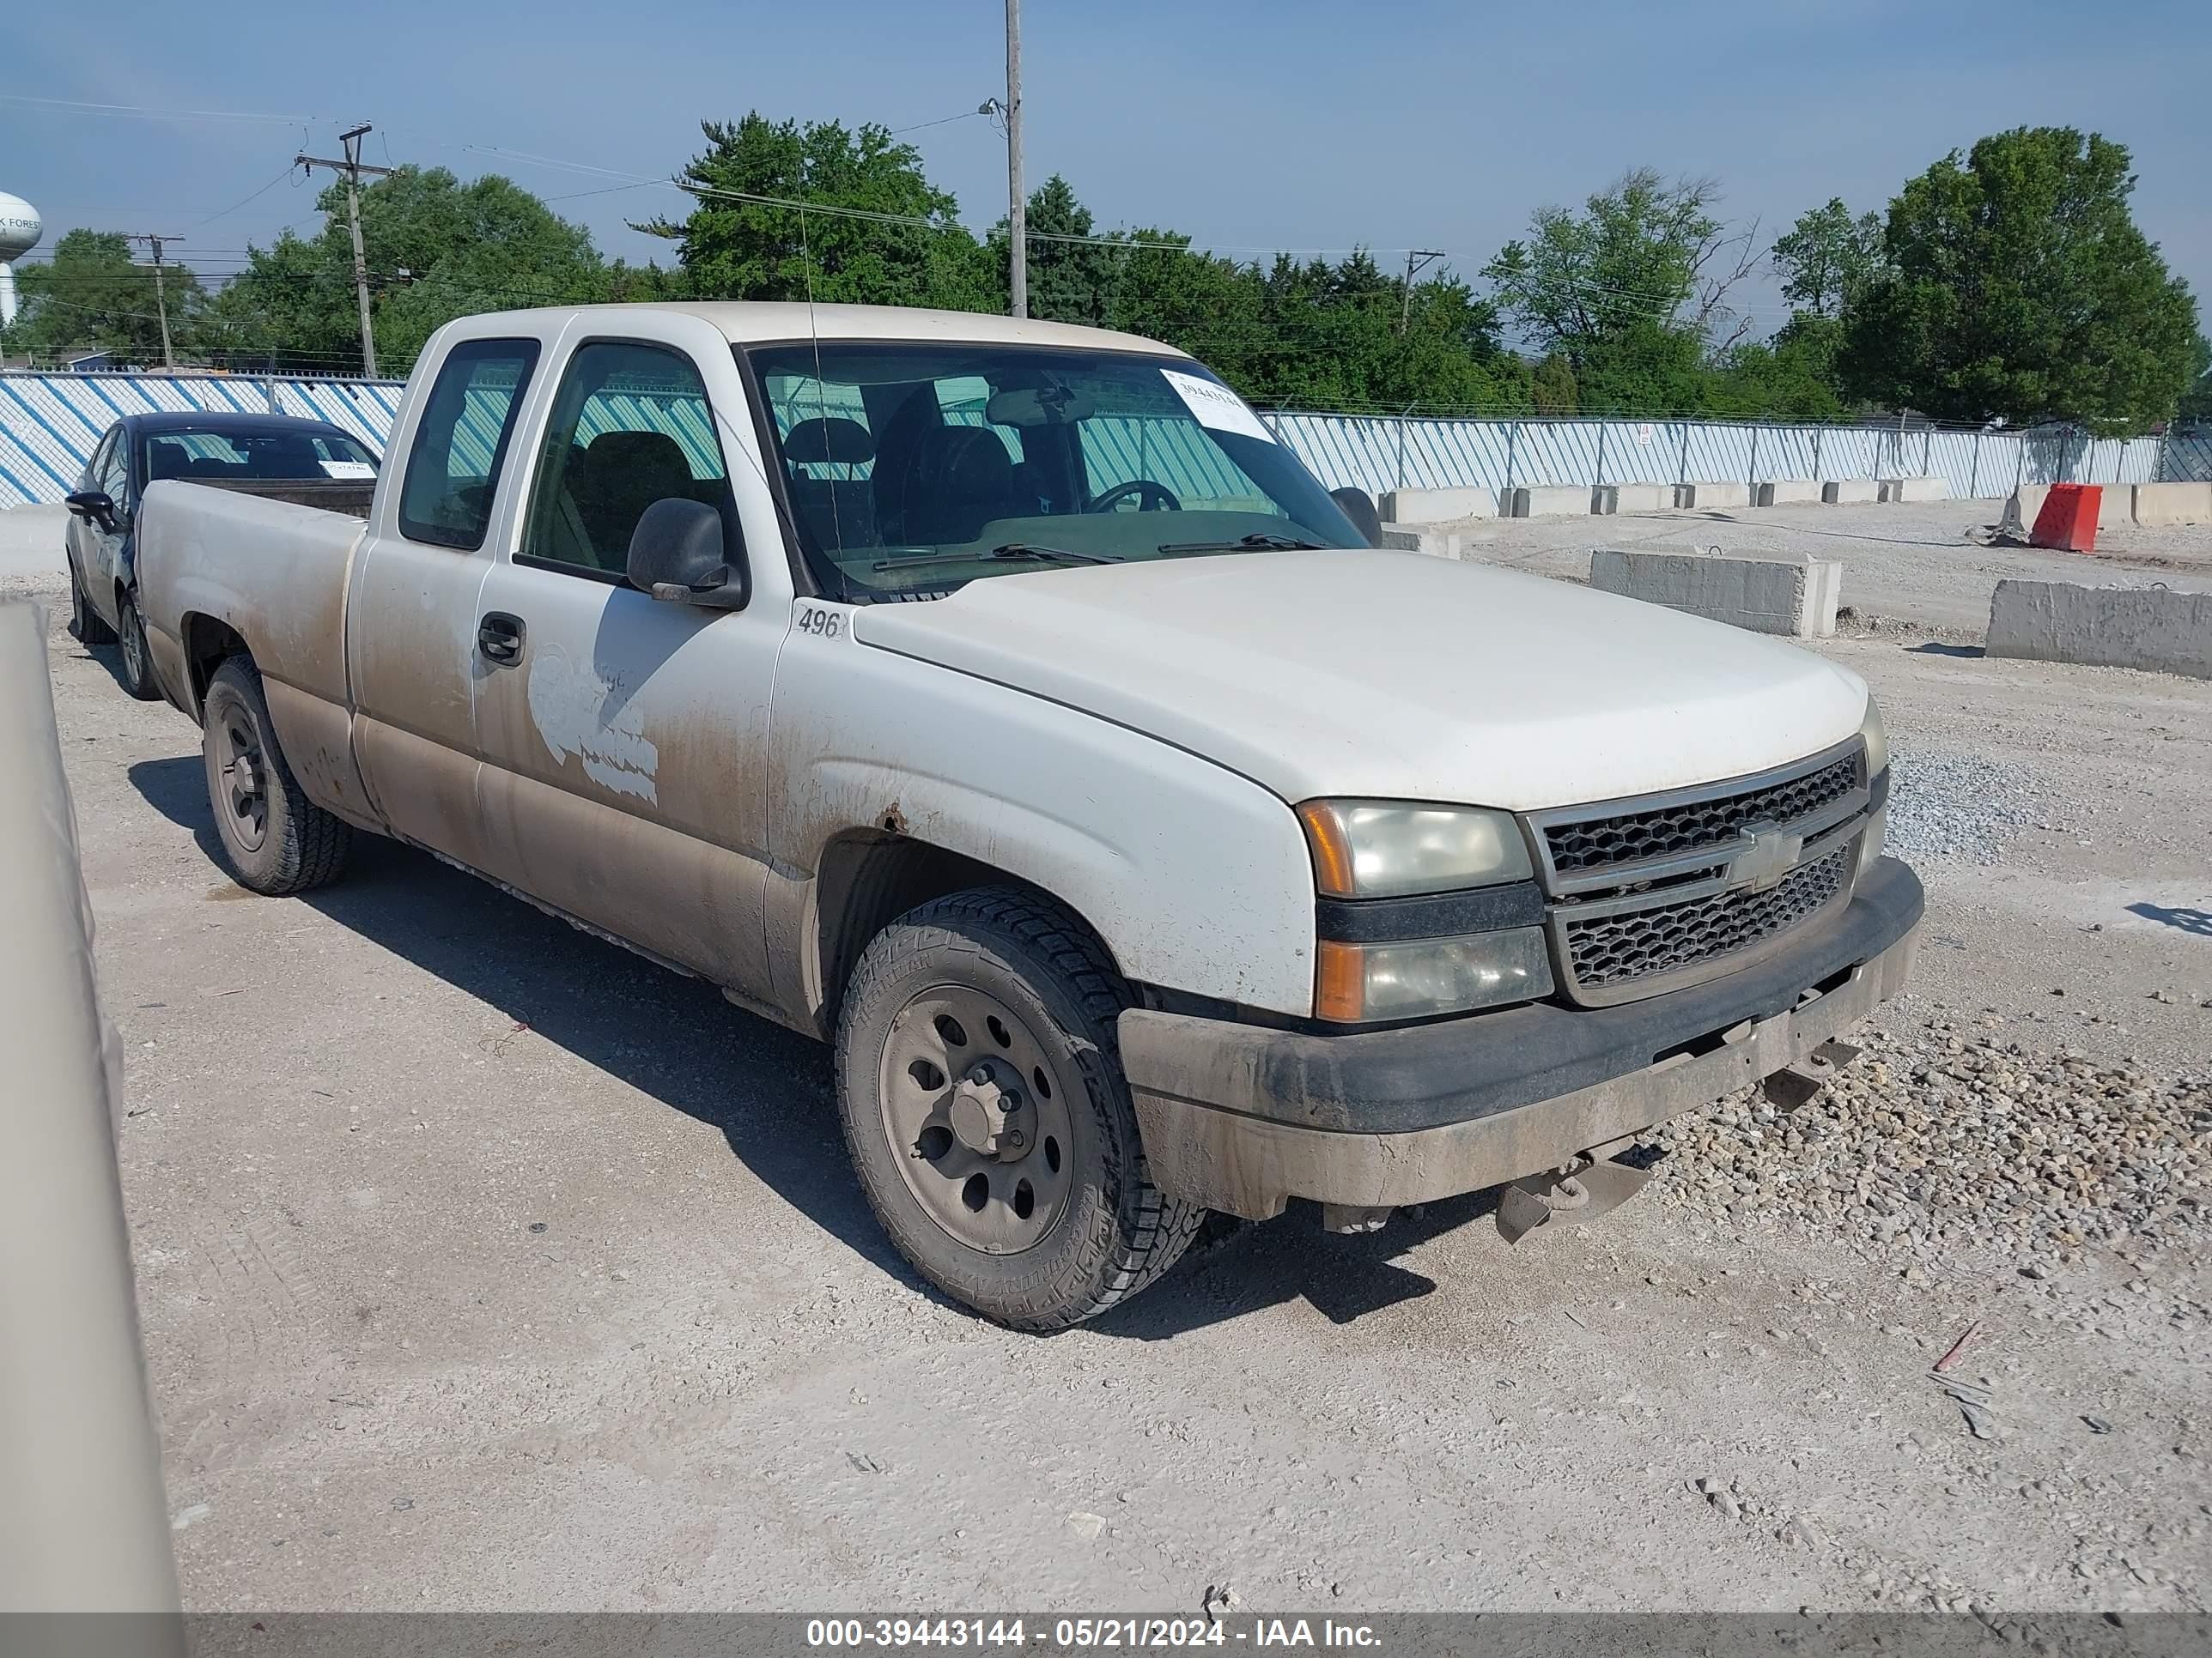
[[[1405,898],[1528,880],[1511,814],[1402,800],[1307,800],[1298,807],[1325,898]]]

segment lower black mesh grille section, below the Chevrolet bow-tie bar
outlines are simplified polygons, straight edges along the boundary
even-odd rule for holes
[[[1571,993],[1619,993],[1637,979],[1725,959],[1778,937],[1834,904],[1851,884],[1856,840],[1798,864],[1765,891],[1734,889],[1617,915],[1562,915]],[[1610,997],[1608,997],[1610,999]]]

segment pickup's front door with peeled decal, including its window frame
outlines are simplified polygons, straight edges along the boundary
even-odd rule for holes
[[[675,314],[566,340],[520,531],[484,579],[495,639],[476,730],[493,873],[717,984],[765,999],[768,696],[790,630],[781,537],[750,546],[745,610],[628,586],[630,533],[695,500],[741,539],[732,471],[759,484],[728,340]],[[630,332],[635,329],[635,332]],[[754,526],[759,531],[759,524]]]

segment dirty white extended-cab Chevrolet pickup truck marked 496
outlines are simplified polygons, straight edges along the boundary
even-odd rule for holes
[[[396,836],[832,1041],[889,1236],[1051,1329],[1206,1211],[1595,1214],[1909,973],[1860,679],[1358,506],[1152,340],[575,307],[429,343],[367,524],[153,484],[139,581],[246,886]]]

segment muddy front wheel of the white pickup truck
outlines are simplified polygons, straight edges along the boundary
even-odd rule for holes
[[[1206,1220],[1146,1172],[1126,1004],[1071,915],[1002,886],[898,917],[847,986],[836,1094],[869,1207],[922,1278],[1000,1324],[1128,1300]]]

